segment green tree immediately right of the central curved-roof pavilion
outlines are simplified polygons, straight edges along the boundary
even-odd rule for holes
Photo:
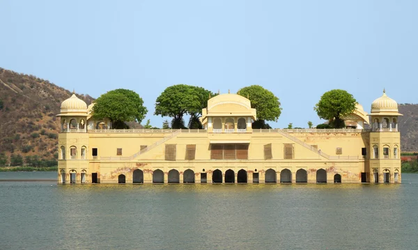
[[[281,114],[279,98],[271,91],[268,91],[262,86],[251,85],[241,88],[238,94],[249,98],[251,108],[257,111],[257,120],[263,120],[262,122],[254,122],[252,124],[253,128],[268,128],[270,125],[265,123],[264,120],[277,121],[279,119]]]

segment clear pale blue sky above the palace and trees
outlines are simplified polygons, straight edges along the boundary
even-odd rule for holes
[[[174,84],[236,93],[258,84],[307,127],[326,91],[370,111],[387,95],[417,103],[418,1],[0,0],[0,67],[99,97],[128,88],[155,99]],[[187,124],[187,120],[185,121]]]

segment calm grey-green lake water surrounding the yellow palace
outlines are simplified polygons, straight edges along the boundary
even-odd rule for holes
[[[417,249],[401,185],[56,185],[0,173],[0,249]]]

